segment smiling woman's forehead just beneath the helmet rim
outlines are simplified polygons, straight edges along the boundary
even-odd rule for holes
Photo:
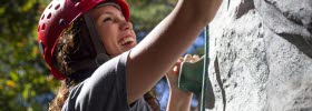
[[[121,11],[119,9],[117,9],[114,6],[104,6],[100,8],[95,8],[91,10],[91,16],[97,19],[104,14],[114,14],[114,16],[121,16],[124,17],[124,14],[121,13]]]

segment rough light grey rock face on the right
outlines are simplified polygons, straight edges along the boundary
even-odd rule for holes
[[[224,0],[209,24],[213,111],[312,111],[312,0]]]

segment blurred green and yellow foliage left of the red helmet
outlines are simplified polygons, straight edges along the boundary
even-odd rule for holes
[[[58,85],[37,47],[37,22],[47,1],[0,4],[0,111],[46,110]]]

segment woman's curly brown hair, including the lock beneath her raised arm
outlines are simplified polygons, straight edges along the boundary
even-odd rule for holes
[[[82,78],[82,80],[72,78],[76,77],[75,74],[80,73],[76,73],[70,67],[72,62],[75,63],[84,59],[94,58],[94,49],[89,44],[84,44],[85,42],[82,41],[85,40],[81,40],[82,38],[86,38],[84,37],[85,34],[81,33],[85,29],[84,27],[86,26],[84,24],[84,20],[81,18],[76,20],[71,27],[62,33],[56,46],[53,65],[58,69],[58,71],[64,73],[67,79],[61,81],[57,95],[49,105],[49,111],[60,111],[68,98],[69,89],[85,80],[85,78]],[[96,68],[89,70],[92,73]],[[160,110],[153,91],[145,93],[144,99],[150,108],[154,109],[154,111]]]

